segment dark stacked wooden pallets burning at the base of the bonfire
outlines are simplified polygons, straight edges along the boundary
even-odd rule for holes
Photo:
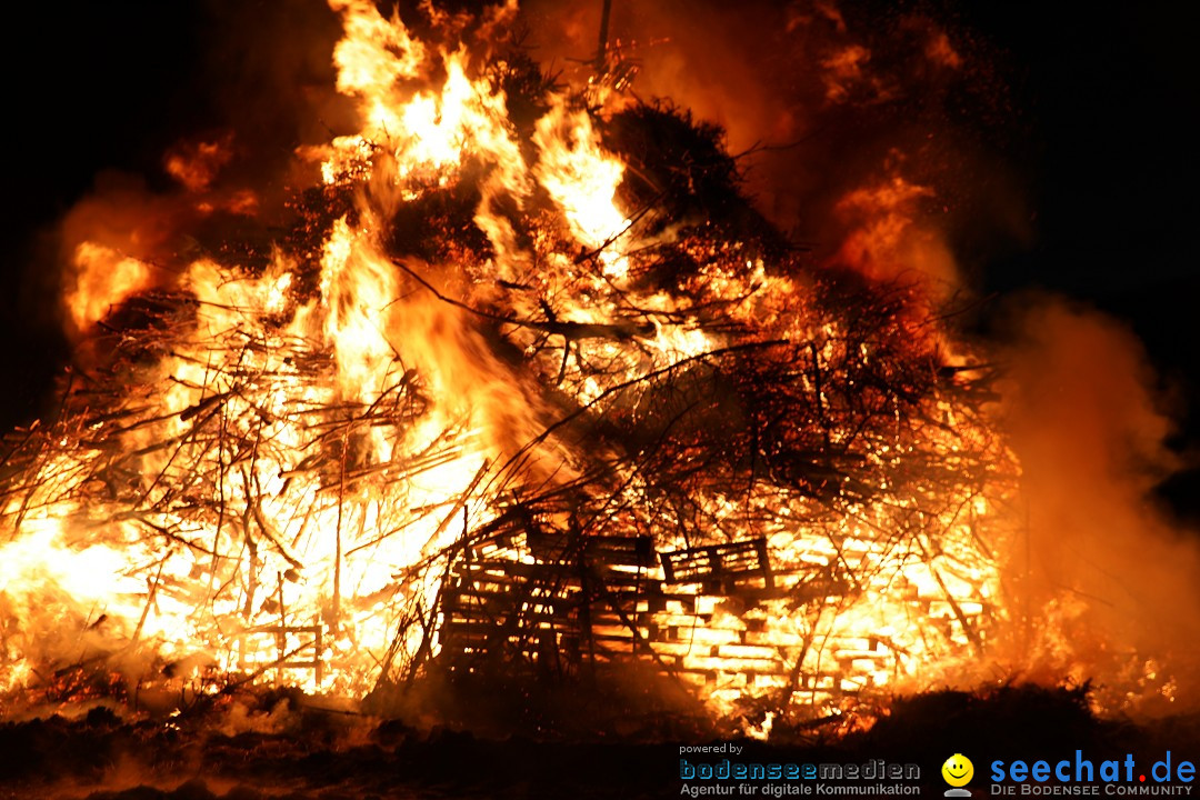
[[[562,674],[644,660],[701,681],[786,673],[780,648],[752,624],[739,628],[730,612],[774,590],[764,540],[667,553],[644,536],[526,543],[533,547],[493,540],[490,558],[451,567],[442,624],[451,669]]]

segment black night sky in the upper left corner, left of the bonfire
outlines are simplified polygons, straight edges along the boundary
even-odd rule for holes
[[[0,423],[42,408],[65,359],[53,335],[42,231],[102,169],[150,173],[166,144],[203,126],[208,98],[191,72],[203,16],[192,4],[42,4],[8,29],[7,201],[0,225]]]

